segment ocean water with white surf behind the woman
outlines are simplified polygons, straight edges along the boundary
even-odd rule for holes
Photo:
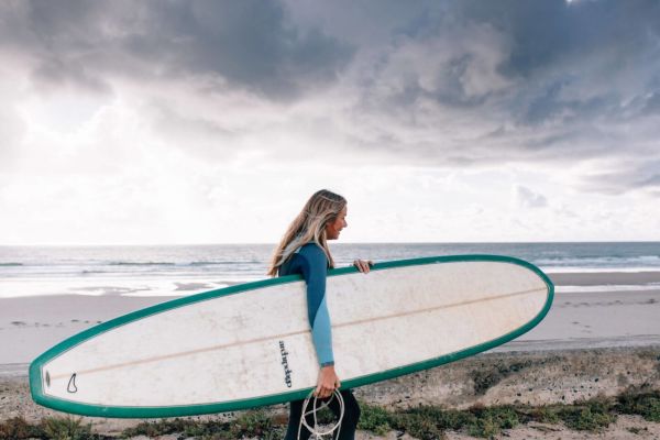
[[[274,244],[0,246],[0,298],[38,295],[184,296],[266,278]],[[498,254],[548,274],[660,272],[660,242],[332,243],[337,266],[436,255]],[[571,286],[571,292],[658,289]],[[565,288],[563,288],[565,292]],[[558,289],[559,293],[562,289]]]

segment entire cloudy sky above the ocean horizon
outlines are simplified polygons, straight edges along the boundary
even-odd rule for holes
[[[660,2],[2,1],[0,244],[660,240]]]

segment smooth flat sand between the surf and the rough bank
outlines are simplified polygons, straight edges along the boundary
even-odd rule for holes
[[[660,284],[660,272],[551,274],[565,286]],[[0,298],[0,365],[30,363],[91,326],[176,297],[66,295]],[[631,292],[558,293],[546,319],[496,351],[660,344],[660,287]],[[2,367],[7,370],[8,367]],[[26,365],[25,365],[26,371]]]

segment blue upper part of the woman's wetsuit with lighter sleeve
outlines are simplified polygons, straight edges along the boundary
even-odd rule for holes
[[[316,243],[302,245],[279,266],[279,276],[300,274],[307,283],[307,317],[311,327],[311,340],[321,366],[334,365],[330,315],[326,305],[326,276],[328,258]]]

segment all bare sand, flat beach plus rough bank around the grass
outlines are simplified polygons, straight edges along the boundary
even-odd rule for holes
[[[550,276],[558,290],[562,286],[660,283],[660,272]],[[29,397],[28,365],[36,355],[99,322],[170,299],[117,295],[0,299],[0,420],[16,416],[38,420],[55,414],[34,405]],[[660,288],[558,293],[547,318],[519,339],[479,356],[363,387],[358,394],[363,400],[384,407],[424,404],[466,408],[571,403],[597,395],[614,396],[636,386],[660,389],[659,316]],[[493,383],[486,389],[477,389],[475,377],[494,371],[498,373]],[[100,432],[119,432],[138,421],[92,422]],[[624,437],[613,433],[609,438],[627,438],[630,430],[626,427],[630,424],[660,436],[658,424],[634,417],[622,418],[617,424],[623,425],[612,429],[618,429]],[[543,433],[522,427],[517,429],[522,437],[517,438],[588,438],[552,429]],[[369,436],[364,433],[362,438],[375,438]],[[449,438],[466,438],[455,436]]]

